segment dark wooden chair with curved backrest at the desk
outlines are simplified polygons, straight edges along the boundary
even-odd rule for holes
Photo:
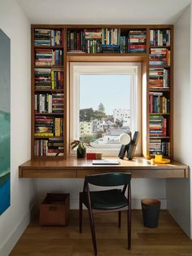
[[[80,192],[80,233],[82,232],[82,205],[89,210],[94,254],[97,255],[97,243],[94,229],[94,212],[118,211],[119,227],[121,224],[121,211],[127,210],[128,225],[128,249],[131,248],[131,174],[130,173],[106,173],[85,176],[83,192]],[[89,184],[100,187],[116,187],[102,191],[89,191]],[[127,189],[127,197],[124,193]]]

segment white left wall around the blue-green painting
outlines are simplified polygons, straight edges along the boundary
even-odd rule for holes
[[[33,181],[18,178],[30,158],[30,24],[15,0],[0,0],[0,28],[11,39],[11,206],[0,215],[0,255],[7,256],[35,199]]]

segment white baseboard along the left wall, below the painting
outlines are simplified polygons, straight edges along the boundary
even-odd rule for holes
[[[0,245],[0,255],[8,256],[11,253],[11,250],[14,248],[17,241],[19,241],[20,236],[23,234],[35,213],[37,213],[37,205],[33,207],[33,210],[28,210],[26,214],[24,214],[24,218],[21,218],[20,222],[15,225],[12,232],[7,237],[7,240]]]

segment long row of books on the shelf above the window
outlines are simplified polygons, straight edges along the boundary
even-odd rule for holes
[[[146,30],[130,30],[124,36],[120,29],[68,30],[67,42],[68,52],[146,52]]]

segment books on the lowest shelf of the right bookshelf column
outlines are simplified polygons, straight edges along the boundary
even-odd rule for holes
[[[150,141],[150,155],[161,154],[164,157],[170,157],[170,143],[162,139],[151,139]]]

